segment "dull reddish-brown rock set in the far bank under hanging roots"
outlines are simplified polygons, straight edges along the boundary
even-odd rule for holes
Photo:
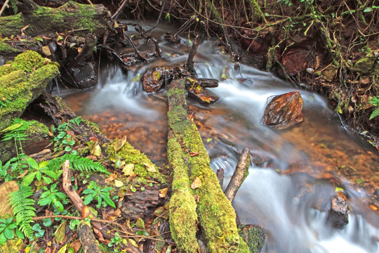
[[[281,64],[288,74],[298,74],[307,68],[307,58],[309,58],[310,51],[304,48],[291,48],[284,53],[281,58]]]

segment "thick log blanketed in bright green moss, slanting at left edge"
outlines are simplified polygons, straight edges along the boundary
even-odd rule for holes
[[[46,85],[59,74],[57,65],[33,51],[16,56],[13,63],[0,66],[0,131],[20,117],[27,105],[45,91]]]

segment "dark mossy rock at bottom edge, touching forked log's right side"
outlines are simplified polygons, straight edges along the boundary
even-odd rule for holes
[[[262,252],[262,247],[265,244],[266,232],[257,225],[238,225],[239,235],[248,245],[250,252]]]

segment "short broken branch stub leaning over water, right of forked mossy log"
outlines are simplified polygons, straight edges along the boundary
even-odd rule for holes
[[[225,196],[230,202],[233,202],[237,191],[241,187],[242,183],[248,176],[248,167],[250,165],[250,150],[248,148],[244,148],[242,150],[241,156],[239,157],[237,167],[234,170],[232,179],[230,179],[227,188],[225,189]]]

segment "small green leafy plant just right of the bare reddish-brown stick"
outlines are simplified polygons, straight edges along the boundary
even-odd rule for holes
[[[92,200],[97,200],[98,205],[96,205],[96,207],[98,208],[100,208],[101,205],[103,207],[110,205],[111,207],[116,208],[116,205],[114,205],[114,202],[110,198],[109,190],[112,189],[112,187],[101,188],[97,183],[91,181],[88,188],[83,191],[83,194],[86,194],[86,197],[84,197],[84,204],[88,205]]]

